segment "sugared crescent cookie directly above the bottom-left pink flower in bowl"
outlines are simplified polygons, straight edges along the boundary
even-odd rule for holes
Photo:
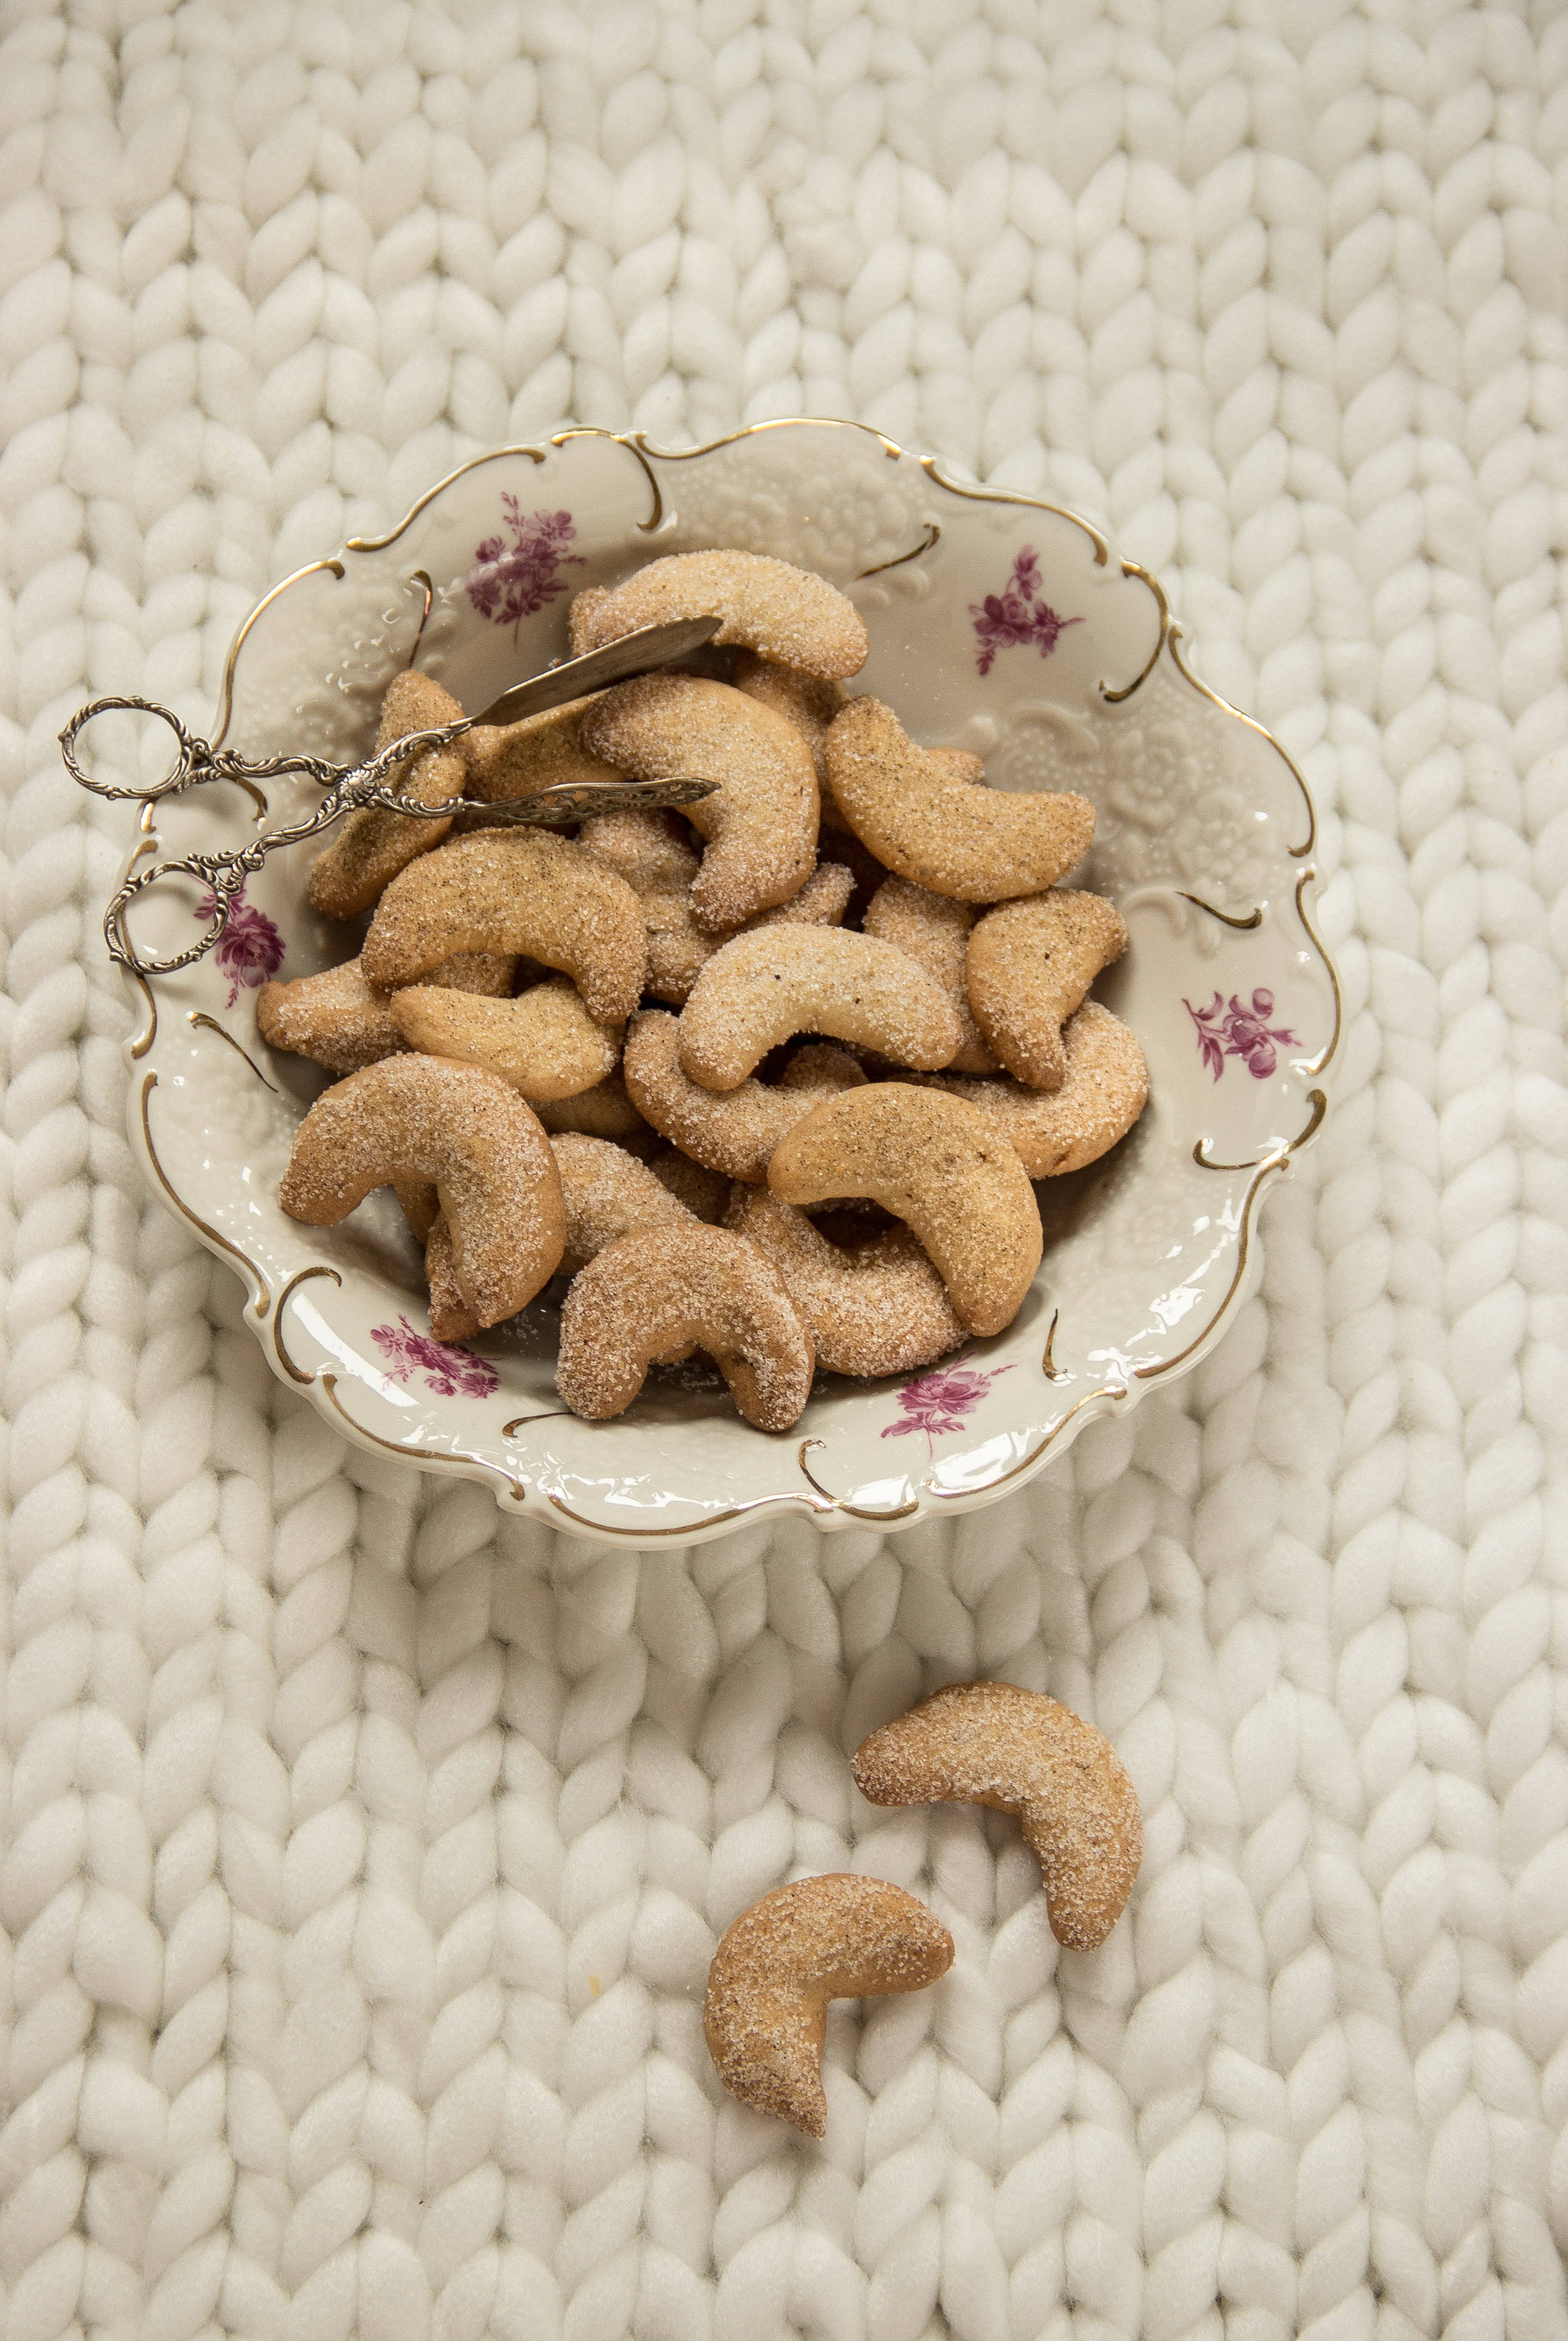
[[[372,1187],[433,1182],[456,1283],[480,1325],[534,1299],[566,1243],[550,1140],[494,1072],[440,1056],[386,1056],[351,1072],[295,1131],[278,1201],[335,1227]]]

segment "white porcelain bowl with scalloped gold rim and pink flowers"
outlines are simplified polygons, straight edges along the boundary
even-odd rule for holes
[[[1257,1283],[1259,1196],[1322,1124],[1339,1039],[1308,925],[1313,808],[1285,751],[1191,679],[1158,585],[1095,529],[826,421],[683,454],[569,431],[468,464],[391,536],[267,595],[229,653],[218,737],[351,763],[400,667],[484,707],[564,653],[578,588],[700,545],[817,569],[871,630],[854,688],[917,740],[983,754],[992,787],[1070,787],[1098,808],[1084,883],[1133,936],[1100,995],[1137,1032],[1151,1098],[1102,1163],[1039,1187],[1046,1257],[1016,1323],[924,1374],[819,1377],[784,1437],[742,1423],[700,1367],[655,1372],[618,1421],[564,1414],[559,1283],[468,1348],[438,1344],[388,1192],[337,1229],[278,1210],[325,1077],[264,1049],[255,988],[358,948],[304,904],[314,847],[274,854],[225,950],[145,993],[131,1140],[246,1276],[274,1372],[365,1447],[487,1480],[552,1526],[644,1543],[768,1510],[819,1529],[969,1510],[1196,1365]],[[143,810],[138,854],[239,845],[311,803],[300,777],[171,798]],[[197,911],[194,892],[150,897],[143,953],[192,941]]]

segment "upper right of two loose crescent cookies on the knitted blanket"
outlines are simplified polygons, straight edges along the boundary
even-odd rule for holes
[[[1070,1950],[1098,1950],[1126,1908],[1144,1845],[1137,1791],[1109,1739],[1039,1690],[948,1683],[861,1739],[854,1782],[873,1805],[1016,1812]]]

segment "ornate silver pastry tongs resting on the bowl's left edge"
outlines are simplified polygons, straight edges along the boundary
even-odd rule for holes
[[[358,812],[370,805],[384,808],[386,812],[410,815],[417,822],[456,819],[463,829],[503,829],[513,824],[552,829],[569,822],[585,822],[601,812],[620,812],[627,805],[695,805],[700,798],[711,796],[718,782],[697,777],[627,780],[623,784],[604,787],[557,782],[550,789],[538,789],[534,796],[513,798],[501,805],[475,805],[463,803],[463,798],[445,798],[435,805],[421,805],[417,798],[403,796],[403,791],[391,784],[388,775],[393,775],[410,756],[421,756],[431,747],[445,747],[449,740],[461,740],[463,733],[475,728],[475,723],[517,723],[548,707],[564,707],[566,700],[585,698],[590,691],[604,691],[608,684],[623,681],[630,674],[646,674],[651,667],[669,665],[674,658],[688,658],[700,644],[709,641],[716,630],[718,618],[693,618],[679,625],[644,627],[637,634],[627,634],[623,641],[608,644],[604,651],[592,651],[587,658],[573,658],[559,667],[548,667],[529,684],[520,684],[503,693],[494,707],[484,709],[482,716],[463,716],[461,723],[442,723],[433,730],[407,733],[403,740],[393,740],[391,747],[384,747],[377,756],[356,766],[325,763],[321,756],[241,756],[236,749],[215,749],[197,733],[190,733],[180,719],[169,707],[159,707],[157,700],[115,695],[77,707],[75,716],[61,733],[61,758],[77,787],[91,789],[94,796],[103,796],[110,803],[131,801],[157,805],[164,796],[180,796],[183,791],[201,789],[213,780],[232,780],[241,789],[257,794],[253,784],[257,780],[271,780],[278,773],[302,773],[307,780],[314,780],[325,789],[325,796],[311,812],[302,815],[297,822],[288,822],[283,829],[267,831],[264,838],[253,838],[250,845],[208,854],[185,854],[183,861],[154,861],[150,869],[131,871],[103,913],[103,941],[110,960],[136,976],[173,976],[180,967],[192,967],[222,941],[246,878],[260,871],[267,854],[274,854],[286,845],[300,845],[304,838],[314,838],[323,829],[330,829],[344,812]],[[152,782],[152,787],[129,789],[108,780],[96,780],[91,773],[82,770],[77,761],[77,737],[84,726],[91,723],[94,716],[119,709],[129,714],[157,716],[176,737],[173,768],[161,780]],[[178,950],[166,960],[145,960],[126,934],[126,911],[138,894],[145,894],[164,878],[194,878],[204,885],[208,899],[201,908],[211,915],[211,925],[187,950]]]

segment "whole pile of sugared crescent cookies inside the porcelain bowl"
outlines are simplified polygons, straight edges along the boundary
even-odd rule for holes
[[[283,1210],[328,1227],[391,1185],[438,1339],[559,1271],[573,1412],[702,1351],[786,1430],[817,1365],[903,1374],[1002,1332],[1041,1257],[1030,1182],[1105,1154],[1147,1070],[1086,997],[1126,927],[1058,885],[1093,808],[988,789],[978,756],[847,698],[864,620],[786,562],[655,559],[576,597],[571,648],[695,616],[721,618],[704,670],[475,726],[403,789],[468,819],[559,782],[716,794],[576,838],[353,812],[309,901],[367,918],[358,957],[264,986],[257,1023],[344,1075]],[[459,719],[400,674],[377,747]]]

